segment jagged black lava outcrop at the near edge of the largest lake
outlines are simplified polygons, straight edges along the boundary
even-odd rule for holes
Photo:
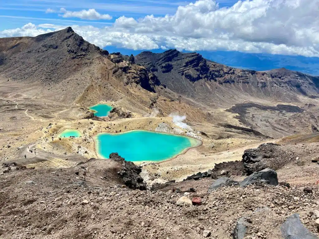
[[[142,172],[140,166],[137,166],[130,161],[125,161],[118,153],[111,153],[109,158],[122,163],[122,169],[117,172],[117,174],[122,177],[124,185],[131,189],[146,190],[146,184],[139,175]]]

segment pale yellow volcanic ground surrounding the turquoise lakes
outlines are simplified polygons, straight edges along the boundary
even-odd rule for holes
[[[58,86],[56,87],[58,89]],[[25,162],[27,167],[69,167],[78,161],[98,157],[94,137],[99,133],[119,133],[135,129],[155,131],[163,122],[171,128],[177,127],[171,117],[161,117],[161,113],[158,117],[143,117],[150,114],[151,110],[122,95],[119,95],[117,100],[98,101],[89,98],[97,94],[94,87],[88,88],[91,95],[85,93],[78,97],[78,103],[50,100],[55,99],[57,95],[57,91],[53,90],[48,91],[48,99],[39,97],[38,91],[41,89],[44,91],[46,88],[41,84],[7,82],[0,76],[0,163],[16,161]],[[130,91],[132,94],[139,94],[141,101],[147,100],[145,91],[136,88],[131,88]],[[115,118],[113,121],[80,120],[88,111],[88,107],[97,103],[123,107],[132,112],[133,118]],[[198,171],[205,171],[213,168],[215,163],[241,160],[245,149],[266,142],[251,135],[225,132],[225,128],[217,125],[219,122],[242,125],[234,119],[236,114],[222,109],[212,109],[211,121],[208,122],[204,118],[205,112],[200,108],[182,102],[170,102],[161,96],[157,104],[167,112],[187,112],[189,117],[186,122],[195,131],[203,131],[209,135],[208,138],[197,134],[203,142],[197,148],[190,148],[172,160],[144,167],[150,172],[159,172],[163,180],[182,178]],[[105,119],[112,120],[109,117]],[[59,140],[58,135],[67,128],[77,129],[83,136]],[[186,130],[183,131],[186,133]],[[33,145],[39,151],[36,159],[34,155],[28,154],[28,145]]]

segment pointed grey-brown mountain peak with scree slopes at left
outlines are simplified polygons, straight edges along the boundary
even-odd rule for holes
[[[12,80],[44,83],[61,82],[108,54],[85,41],[71,27],[36,37],[1,38],[0,52],[2,74]]]

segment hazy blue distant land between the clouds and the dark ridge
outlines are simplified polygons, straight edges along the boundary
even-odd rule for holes
[[[106,47],[110,53],[121,52],[123,55],[137,55],[143,50],[129,50],[115,47]],[[153,53],[165,50],[154,49]],[[189,51],[184,51],[189,52]],[[273,55],[264,53],[243,53],[237,51],[198,51],[204,58],[227,66],[251,70],[271,70],[286,68],[300,71],[313,76],[319,76],[319,57]]]

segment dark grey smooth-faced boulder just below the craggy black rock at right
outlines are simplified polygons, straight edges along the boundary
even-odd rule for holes
[[[241,187],[245,187],[249,184],[254,184],[257,182],[267,183],[269,185],[278,185],[278,177],[277,173],[273,169],[264,169],[259,172],[254,172],[253,174],[246,177],[243,181],[239,183]]]

